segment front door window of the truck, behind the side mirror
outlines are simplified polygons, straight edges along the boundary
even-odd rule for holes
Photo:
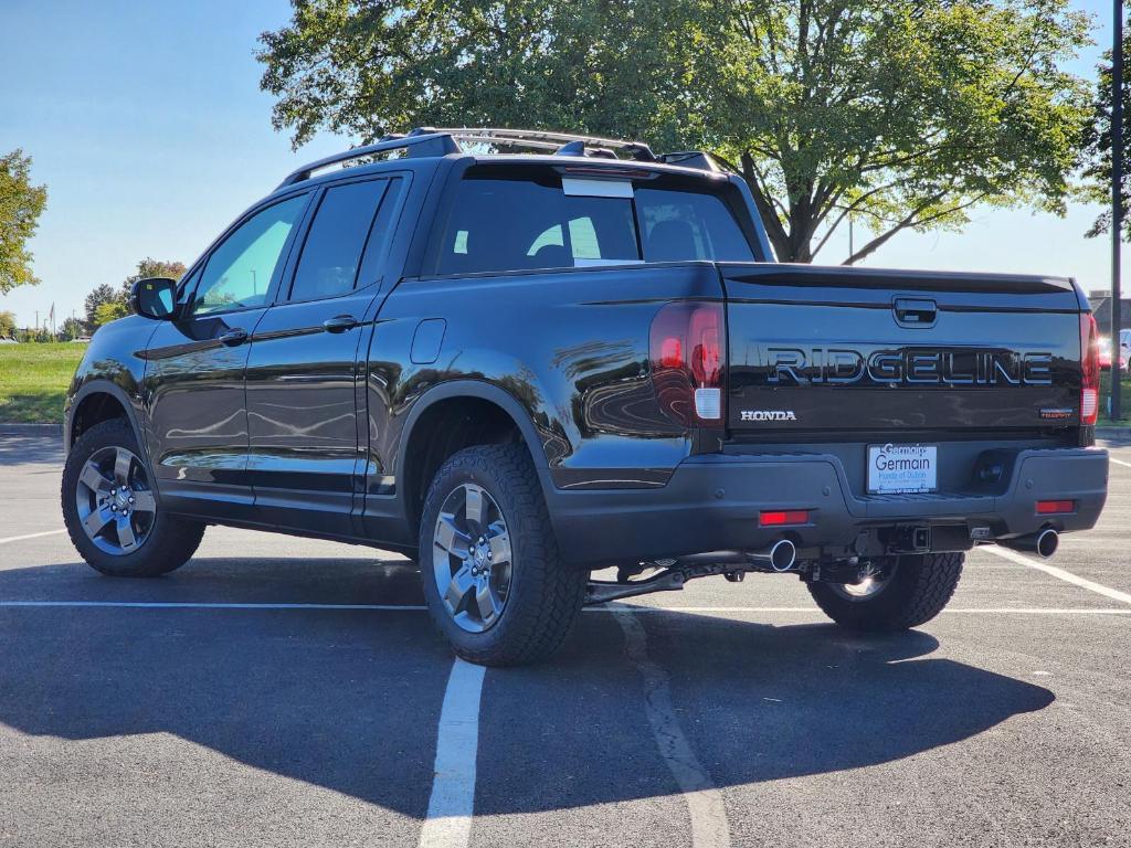
[[[283,258],[307,196],[283,200],[256,213],[213,251],[192,301],[195,314],[261,306]]]

